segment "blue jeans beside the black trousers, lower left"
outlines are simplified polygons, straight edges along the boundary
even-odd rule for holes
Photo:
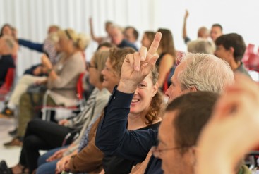
[[[58,148],[52,149],[50,151],[47,151],[47,153],[40,156],[40,158],[38,159],[38,168],[37,168],[36,174],[52,174],[52,173],[55,173],[56,163],[59,161],[59,159],[56,159],[52,162],[47,162],[46,160],[50,156],[55,154],[56,151],[59,151],[61,149],[67,148],[67,147],[68,146],[58,147]]]

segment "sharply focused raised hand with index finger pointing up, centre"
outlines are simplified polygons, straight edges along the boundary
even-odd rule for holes
[[[158,58],[156,52],[161,37],[161,32],[157,32],[148,51],[142,46],[139,52],[126,56],[121,67],[121,80],[117,88],[119,91],[134,92],[137,85],[150,73]]]

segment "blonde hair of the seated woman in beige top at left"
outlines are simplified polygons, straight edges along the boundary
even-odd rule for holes
[[[66,30],[60,30],[59,31],[59,37],[65,36],[67,39],[70,39],[73,41],[74,46],[76,46],[81,51],[84,51],[89,43],[90,43],[90,37],[83,34],[83,33],[76,33],[74,30],[68,28]]]

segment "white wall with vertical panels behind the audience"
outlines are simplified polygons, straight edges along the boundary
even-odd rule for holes
[[[135,26],[140,39],[145,30],[166,27],[173,32],[176,49],[185,51],[181,30],[186,8],[190,13],[187,31],[192,39],[197,37],[198,27],[220,23],[225,33],[237,32],[247,44],[258,44],[258,7],[257,0],[0,0],[0,26],[10,23],[20,38],[43,42],[52,24],[89,34],[88,18],[92,16],[96,35],[105,35],[106,20]],[[90,44],[88,59],[96,47]],[[18,75],[38,62],[40,54],[21,47]]]

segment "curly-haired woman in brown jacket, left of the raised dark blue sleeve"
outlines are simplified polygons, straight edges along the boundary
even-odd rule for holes
[[[110,51],[110,56],[105,64],[106,67],[102,70],[102,75],[104,75],[104,82],[102,85],[106,87],[109,92],[112,93],[114,86],[119,83],[119,78],[121,77],[121,65],[124,62],[124,58],[127,54],[133,52],[135,52],[135,50],[131,48],[112,49]],[[101,118],[102,117],[103,115]],[[73,156],[73,158],[71,158],[71,156],[68,156],[67,158],[64,157],[59,161],[59,163],[57,163],[56,169],[58,171],[70,170],[73,173],[78,171],[97,173],[102,170],[102,158],[104,154],[102,154],[102,151],[95,146],[95,132],[101,118],[96,120],[91,126],[88,134],[88,143],[83,143],[83,146],[78,149],[78,154]],[[85,135],[87,134],[85,133]]]

